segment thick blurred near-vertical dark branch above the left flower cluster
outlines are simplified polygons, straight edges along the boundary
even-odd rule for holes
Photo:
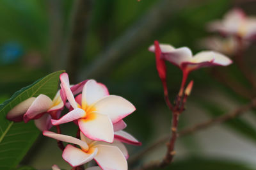
[[[90,15],[90,0],[76,0],[70,21],[70,35],[67,44],[67,72],[72,79],[76,80],[78,68],[84,52],[84,42],[86,38],[86,29],[88,27],[88,19]]]

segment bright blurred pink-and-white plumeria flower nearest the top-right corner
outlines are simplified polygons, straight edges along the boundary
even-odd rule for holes
[[[243,10],[234,9],[228,12],[223,20],[210,22],[209,31],[218,31],[222,35],[235,35],[251,40],[256,35],[256,17],[247,17]]]

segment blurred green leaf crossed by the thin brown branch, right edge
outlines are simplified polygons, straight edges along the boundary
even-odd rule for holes
[[[218,104],[214,104],[212,102],[205,102],[200,101],[198,102],[204,108],[207,113],[211,114],[212,117],[221,116],[223,114],[226,114]],[[244,137],[251,139],[256,143],[256,130],[253,128],[249,123],[244,121],[241,118],[233,118],[231,120],[225,121],[223,123],[224,125],[227,125],[228,127],[232,128],[232,130],[235,130],[239,134],[243,135]]]

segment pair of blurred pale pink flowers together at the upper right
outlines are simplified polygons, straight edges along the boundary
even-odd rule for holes
[[[237,50],[246,48],[256,38],[256,18],[246,16],[243,10],[234,8],[222,20],[207,24],[208,31],[220,33],[202,40],[202,46],[224,54],[234,55]]]

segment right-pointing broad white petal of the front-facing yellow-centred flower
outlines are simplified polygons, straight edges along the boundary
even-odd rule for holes
[[[102,98],[93,107],[96,109],[95,112],[108,115],[113,123],[122,120],[136,110],[131,102],[115,95]]]

